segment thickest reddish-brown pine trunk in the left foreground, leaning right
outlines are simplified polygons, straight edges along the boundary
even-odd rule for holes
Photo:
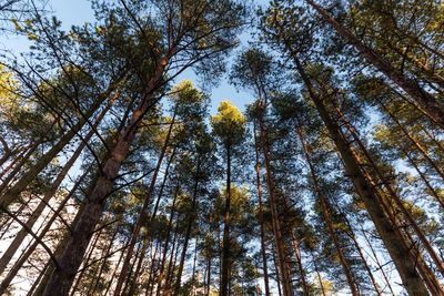
[[[168,62],[169,60],[167,58],[160,61],[154,75],[148,83],[139,106],[133,112],[123,135],[119,137],[111,152],[110,159],[105,162],[94,190],[87,198],[88,202],[84,211],[72,232],[71,239],[59,259],[60,266],[51,275],[51,279],[43,293],[44,296],[68,295],[77,269],[82,263],[83,254],[104,210],[104,202],[112,192],[114,178],[118,176],[120,166],[130,153],[130,146],[134,140],[140,122],[147,111],[157,102],[153,98],[153,93],[162,83],[163,71]]]

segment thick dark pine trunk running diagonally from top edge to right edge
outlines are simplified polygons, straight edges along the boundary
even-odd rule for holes
[[[386,74],[393,82],[408,93],[408,95],[416,101],[416,103],[428,114],[428,116],[442,129],[444,129],[444,109],[436,98],[424,91],[416,81],[408,79],[402,72],[394,69],[390,62],[365,45],[346,27],[336,21],[325,9],[316,4],[313,0],[305,1],[314,10],[316,10],[341,37],[355,47],[369,62],[371,62],[377,70]]]

